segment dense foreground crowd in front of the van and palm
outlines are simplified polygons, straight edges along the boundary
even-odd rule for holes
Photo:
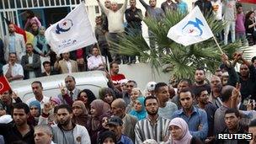
[[[149,82],[144,90],[110,63],[108,88],[79,89],[72,75],[60,93],[47,96],[43,82],[23,101],[11,89],[0,94],[0,141],[36,144],[256,143],[256,57],[236,52],[208,80],[203,68],[195,82]],[[234,67],[243,61],[240,71]],[[249,125],[248,125],[249,124]],[[252,139],[219,139],[218,134],[252,133]]]

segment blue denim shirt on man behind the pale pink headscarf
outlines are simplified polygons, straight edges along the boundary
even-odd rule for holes
[[[189,132],[192,136],[204,140],[208,133],[207,114],[205,110],[198,109],[193,106],[193,112],[190,116],[185,115],[183,109],[179,109],[173,113],[173,118],[179,117],[189,125]],[[202,130],[198,130],[199,125],[202,125]]]

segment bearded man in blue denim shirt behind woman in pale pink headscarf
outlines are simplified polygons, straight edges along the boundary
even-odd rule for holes
[[[196,108],[193,105],[193,93],[185,88],[179,93],[179,102],[182,109],[173,113],[173,118],[179,117],[189,125],[189,133],[192,136],[205,140],[208,133],[207,114],[205,110]]]

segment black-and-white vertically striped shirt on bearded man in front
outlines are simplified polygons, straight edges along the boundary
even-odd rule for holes
[[[157,122],[152,124],[148,117],[140,120],[135,126],[135,143],[141,144],[147,139],[154,139],[157,142],[163,141],[168,136],[168,125],[171,120],[158,116]]]

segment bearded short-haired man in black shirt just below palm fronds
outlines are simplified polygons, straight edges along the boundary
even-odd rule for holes
[[[206,88],[207,91],[211,92],[211,86],[209,83],[205,83],[206,76],[205,76],[205,70],[203,68],[196,68],[195,70],[195,83],[192,85],[191,89],[192,92],[194,92],[195,88]]]

